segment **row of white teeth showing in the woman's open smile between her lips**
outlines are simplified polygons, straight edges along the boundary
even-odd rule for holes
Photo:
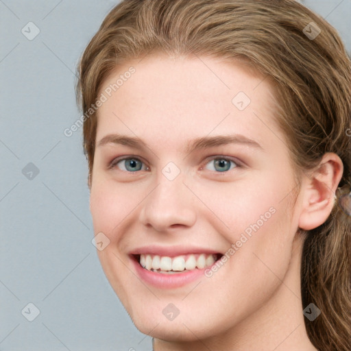
[[[175,257],[154,254],[132,255],[148,271],[161,274],[182,274],[184,271],[211,267],[223,254],[186,254]]]

